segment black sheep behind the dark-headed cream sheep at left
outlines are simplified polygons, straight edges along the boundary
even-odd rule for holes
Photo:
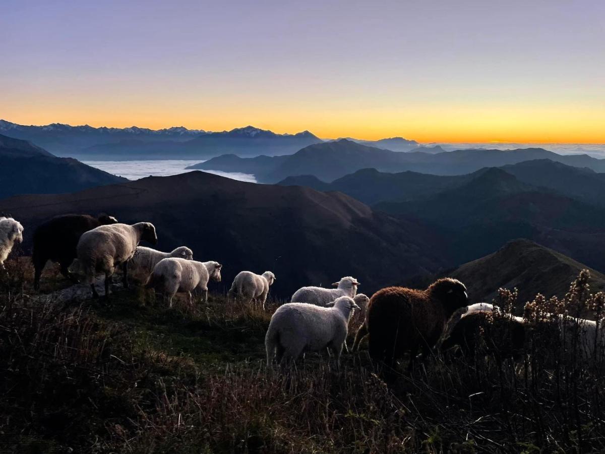
[[[77,256],[78,240],[84,232],[110,224],[117,224],[117,219],[106,214],[100,214],[98,217],[88,214],[64,214],[38,226],[34,231],[31,255],[35,270],[34,289],[40,288],[40,277],[48,260],[58,262],[61,274],[77,283],[69,267]]]

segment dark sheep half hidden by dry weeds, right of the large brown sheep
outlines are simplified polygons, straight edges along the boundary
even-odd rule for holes
[[[469,358],[476,358],[477,347],[485,342],[485,352],[499,360],[518,359],[525,346],[525,324],[520,317],[492,314],[491,311],[469,312],[452,327],[443,340],[443,351],[459,346]]]

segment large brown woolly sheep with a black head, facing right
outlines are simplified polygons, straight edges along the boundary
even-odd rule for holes
[[[420,347],[423,356],[436,344],[445,324],[458,308],[468,304],[465,285],[442,278],[426,290],[387,287],[370,299],[365,321],[355,335],[353,350],[370,335],[370,357],[392,366],[405,351],[410,352],[408,370]]]

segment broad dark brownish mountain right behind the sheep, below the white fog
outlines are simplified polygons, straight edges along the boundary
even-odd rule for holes
[[[160,249],[187,245],[198,260],[223,263],[225,288],[243,269],[269,269],[277,276],[272,294],[281,297],[343,275],[371,292],[446,265],[428,229],[344,194],[195,171],[76,194],[12,197],[0,201],[0,211],[24,223],[26,249],[35,226],[56,214],[104,211],[122,222],[153,222]]]

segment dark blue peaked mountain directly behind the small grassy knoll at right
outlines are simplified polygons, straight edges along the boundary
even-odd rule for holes
[[[605,209],[527,185],[502,169],[425,199],[375,208],[439,229],[457,263],[523,237],[605,269]]]

